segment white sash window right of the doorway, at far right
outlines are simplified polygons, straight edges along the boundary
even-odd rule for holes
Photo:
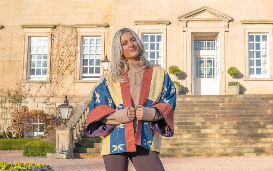
[[[248,34],[249,78],[269,78],[268,33]]]

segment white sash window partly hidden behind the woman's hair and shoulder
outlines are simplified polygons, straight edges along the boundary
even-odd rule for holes
[[[163,34],[142,34],[145,51],[149,54],[148,60],[154,64],[163,64]]]

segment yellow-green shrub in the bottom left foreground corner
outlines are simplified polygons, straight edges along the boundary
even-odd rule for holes
[[[13,163],[6,163],[0,161],[0,171],[54,171],[48,164],[44,163],[22,163],[22,162],[16,162]]]

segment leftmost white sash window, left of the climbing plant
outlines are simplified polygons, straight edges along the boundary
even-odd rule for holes
[[[28,40],[28,80],[46,80],[48,37]]]

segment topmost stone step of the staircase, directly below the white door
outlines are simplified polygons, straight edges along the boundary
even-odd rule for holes
[[[273,94],[220,94],[220,95],[184,95],[177,94],[177,97],[273,97]]]

